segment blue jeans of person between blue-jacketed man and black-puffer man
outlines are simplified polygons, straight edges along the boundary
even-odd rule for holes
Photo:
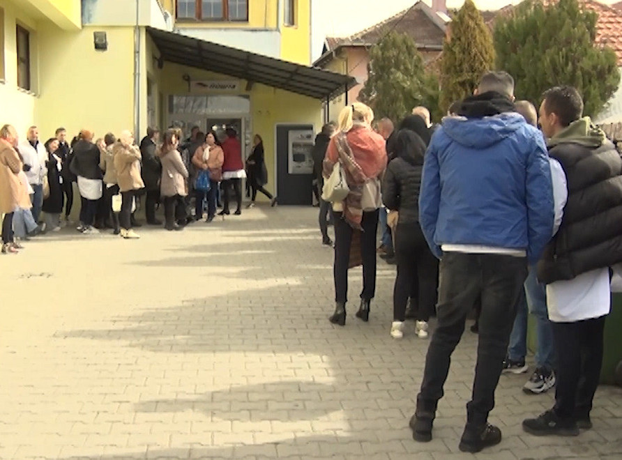
[[[553,342],[553,330],[549,321],[547,310],[547,291],[546,286],[538,282],[536,277],[536,267],[529,268],[529,275],[525,280],[526,306],[529,312],[536,316],[536,337],[538,348],[536,350],[536,367],[554,369],[555,367],[555,348]],[[514,328],[510,336],[510,346],[508,348],[508,358],[519,361],[524,359],[527,354],[527,314],[526,306],[520,305],[517,309]]]

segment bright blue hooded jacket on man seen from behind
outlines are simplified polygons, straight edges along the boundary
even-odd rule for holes
[[[514,112],[445,118],[425,155],[419,219],[439,259],[443,244],[483,245],[536,263],[554,220],[542,133]]]

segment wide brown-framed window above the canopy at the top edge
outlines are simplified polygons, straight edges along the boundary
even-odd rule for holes
[[[177,0],[177,19],[248,21],[248,0]]]

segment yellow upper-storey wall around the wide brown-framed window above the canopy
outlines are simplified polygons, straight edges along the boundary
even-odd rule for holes
[[[162,6],[173,17],[176,13],[176,0],[163,0]],[[184,25],[197,27],[212,27],[216,29],[276,29],[278,0],[250,0],[248,2],[248,22],[241,21],[188,21],[176,22],[176,26],[183,29]]]

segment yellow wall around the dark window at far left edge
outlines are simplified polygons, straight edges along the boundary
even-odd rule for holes
[[[33,124],[36,95],[17,88],[17,48],[15,25],[20,24],[31,31],[34,37],[37,35],[36,22],[14,3],[0,0],[0,8],[3,10],[3,25],[0,30],[4,33],[3,64],[4,77],[0,82],[0,125],[10,123],[17,129],[20,138],[26,136],[26,130]],[[32,50],[36,54],[36,49]],[[35,69],[33,69],[35,70]],[[37,86],[37,75],[32,75],[33,87]]]

